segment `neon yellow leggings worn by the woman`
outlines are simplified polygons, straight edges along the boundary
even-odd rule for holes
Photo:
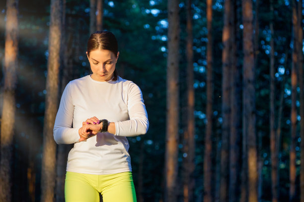
[[[136,202],[132,172],[92,175],[67,172],[66,202]]]

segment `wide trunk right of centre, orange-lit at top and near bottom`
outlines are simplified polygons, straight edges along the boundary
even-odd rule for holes
[[[242,0],[243,15],[243,133],[248,163],[248,202],[257,202],[257,151],[255,132],[255,68],[253,55],[252,1]]]

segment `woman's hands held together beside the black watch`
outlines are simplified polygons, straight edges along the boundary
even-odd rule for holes
[[[82,122],[82,127],[78,130],[80,136],[79,142],[96,135],[101,129],[102,124],[100,125],[100,121],[96,116],[86,119],[86,121]]]

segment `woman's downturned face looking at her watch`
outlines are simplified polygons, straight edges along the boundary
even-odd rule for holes
[[[90,51],[87,58],[93,72],[91,78],[95,81],[109,81],[112,79],[118,55],[119,52],[115,55],[110,50],[95,49]]]

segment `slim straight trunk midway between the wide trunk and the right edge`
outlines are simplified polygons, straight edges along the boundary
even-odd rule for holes
[[[277,153],[277,135],[275,128],[275,67],[274,67],[274,29],[273,29],[273,20],[274,20],[274,8],[273,0],[270,0],[270,31],[271,31],[271,40],[270,40],[270,152],[271,152],[271,191],[272,191],[272,202],[278,202],[278,153]]]

